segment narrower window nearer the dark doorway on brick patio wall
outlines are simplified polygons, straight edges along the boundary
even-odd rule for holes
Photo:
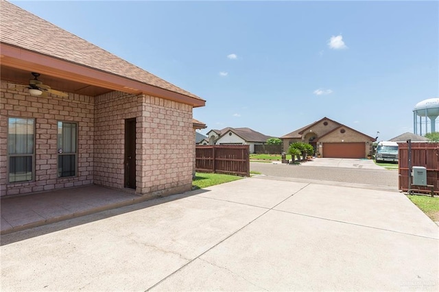
[[[76,175],[77,127],[76,123],[58,121],[58,178]]]

